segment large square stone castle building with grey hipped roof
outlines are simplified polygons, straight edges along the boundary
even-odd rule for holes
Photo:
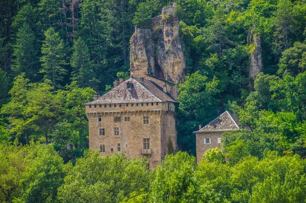
[[[147,76],[114,82],[114,89],[86,103],[89,147],[101,156],[124,153],[146,156],[149,168],[161,164],[171,149],[176,151],[176,89],[169,82]]]

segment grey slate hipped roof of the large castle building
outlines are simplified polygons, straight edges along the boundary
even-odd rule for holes
[[[127,83],[132,88],[127,89]],[[144,103],[144,102],[177,102],[169,93],[164,93],[163,88],[151,80],[130,78],[116,88],[95,101],[86,104],[121,104],[121,103]]]

